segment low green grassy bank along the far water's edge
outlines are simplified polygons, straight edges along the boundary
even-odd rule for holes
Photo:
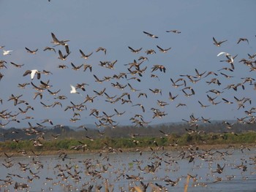
[[[256,132],[248,131],[241,134],[169,134],[161,137],[102,137],[94,140],[84,139],[50,139],[42,140],[42,146],[34,146],[29,140],[20,140],[19,142],[7,140],[0,142],[0,150],[3,152],[26,151],[58,151],[58,150],[76,150],[94,151],[94,150],[126,150],[131,148],[140,148],[147,150],[150,147],[167,146],[186,146],[186,145],[233,145],[233,144],[255,144]]]

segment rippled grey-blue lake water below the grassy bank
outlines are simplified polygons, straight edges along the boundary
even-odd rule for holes
[[[188,174],[187,191],[256,191],[255,151],[154,150],[141,155],[138,151],[67,154],[64,159],[64,155],[7,158],[3,153],[0,191],[15,187],[18,191],[89,191],[90,186],[91,191],[105,191],[106,186],[132,191],[135,186],[143,189],[142,184],[148,185],[146,191],[184,191]],[[217,164],[224,166],[220,173]]]

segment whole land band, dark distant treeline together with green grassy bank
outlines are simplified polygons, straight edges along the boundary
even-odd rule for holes
[[[29,131],[28,131],[29,130]],[[121,150],[151,150],[157,147],[184,147],[188,145],[246,145],[256,143],[255,124],[234,123],[231,129],[224,123],[206,123],[191,127],[187,123],[157,126],[116,128],[0,128],[2,152],[56,153],[69,150],[115,152]]]

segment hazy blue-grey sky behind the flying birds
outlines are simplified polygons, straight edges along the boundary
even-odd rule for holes
[[[1,11],[1,33],[0,60],[6,61],[7,68],[0,69],[4,75],[0,80],[0,111],[7,110],[11,114],[17,114],[20,109],[25,110],[26,104],[14,105],[14,102],[8,101],[10,96],[22,95],[20,100],[25,100],[34,110],[28,110],[25,114],[19,113],[16,119],[1,119],[1,123],[8,123],[5,127],[24,127],[28,123],[36,125],[42,123],[45,119],[50,119],[53,126],[67,125],[80,126],[83,124],[99,123],[100,118],[90,115],[91,109],[99,110],[99,116],[104,113],[107,115],[124,112],[124,115],[114,115],[114,125],[135,125],[130,118],[136,114],[143,115],[143,120],[148,125],[158,123],[173,123],[182,120],[190,120],[189,116],[194,115],[195,118],[210,118],[211,120],[236,120],[237,118],[246,117],[245,111],[255,107],[256,91],[254,87],[255,80],[244,82],[244,77],[252,77],[256,79],[255,71],[250,72],[250,67],[246,66],[241,59],[255,61],[249,59],[247,55],[256,53],[256,26],[255,26],[255,1],[0,1]],[[181,31],[180,34],[166,32],[170,30]],[[143,33],[146,31],[150,34],[157,35],[159,38],[148,37]],[[70,54],[66,61],[61,61],[58,51],[65,53],[62,45],[54,47],[56,53],[46,50],[45,47],[53,47],[51,33],[55,34],[59,40],[68,39],[67,42]],[[224,41],[220,47],[214,45],[213,37],[217,41]],[[248,39],[247,42],[238,42],[239,38]],[[159,48],[167,49],[171,47],[167,53],[162,53]],[[139,49],[139,53],[132,53],[129,47]],[[36,54],[27,53],[25,47],[38,51]],[[107,54],[96,52],[98,47],[105,47]],[[146,50],[153,49],[154,54],[146,54]],[[12,50],[11,55],[3,55],[2,50]],[[93,53],[89,58],[81,58],[79,50],[83,53]],[[230,64],[223,60],[227,60],[225,55],[219,55],[220,52],[229,53],[237,57],[234,59],[233,72],[222,68],[230,68]],[[129,64],[138,58],[145,56],[148,61],[144,61],[140,65],[140,69],[146,67],[142,77],[138,74],[133,76],[129,74]],[[116,61],[117,60],[117,61]],[[107,69],[99,66],[99,61],[116,61],[114,69]],[[223,61],[223,62],[221,62]],[[10,64],[24,64],[17,68]],[[79,66],[89,64],[92,66],[92,72],[89,69],[83,72],[83,67],[75,71],[72,64]],[[59,65],[68,66],[67,69],[59,69]],[[165,72],[160,70],[152,71],[154,65],[165,66]],[[255,66],[255,64],[254,64]],[[50,71],[52,74],[41,75],[43,82],[49,80],[50,91],[57,91],[59,95],[67,96],[65,100],[54,99],[47,90],[43,91],[42,99],[33,99],[34,85],[40,85],[40,80],[34,78],[31,80],[29,75],[23,77],[26,70],[37,69],[39,71]],[[131,68],[135,70],[134,67]],[[187,85],[181,85],[178,88],[173,87],[172,80],[178,80],[180,75],[195,76],[198,72],[203,73],[203,77],[197,78],[196,83],[190,82],[188,77],[182,77],[186,80]],[[218,71],[219,69],[222,69]],[[125,72],[127,78],[111,79],[102,83],[95,82],[94,75],[102,80],[104,77],[113,77],[114,74]],[[215,72],[218,75],[209,75],[208,72]],[[222,72],[222,74],[220,74]],[[151,74],[157,75],[158,78],[151,77]],[[233,77],[227,78],[223,74]],[[140,78],[140,82],[130,79],[131,77]],[[217,78],[221,85],[214,83],[208,84],[213,78]],[[195,79],[195,78],[193,78]],[[18,88],[18,83],[29,82],[26,88]],[[80,94],[70,93],[70,85],[77,83],[86,83],[86,91],[78,90]],[[114,88],[116,82],[121,85],[127,85],[124,90]],[[227,85],[244,82],[244,89],[238,87],[237,91],[233,88],[227,89]],[[128,86],[139,91],[131,91]],[[252,85],[250,85],[252,84]],[[192,88],[195,95],[185,96],[182,91],[192,93],[188,89]],[[67,106],[80,104],[85,101],[85,97],[95,96],[94,91],[102,91],[109,96],[121,96],[123,93],[130,94],[132,103],[121,104],[121,100],[115,104],[106,101],[107,98],[103,94],[94,98],[93,102],[85,103],[87,110],[78,112],[80,116],[75,123],[70,121],[74,112],[66,110]],[[161,94],[154,94],[150,91],[155,88],[162,90]],[[225,89],[226,88],[226,89]],[[208,92],[217,90],[222,93],[219,95]],[[170,101],[169,92],[173,96],[177,96],[174,101]],[[146,93],[147,98],[140,96],[139,93]],[[58,96],[59,96],[58,95]],[[217,99],[214,101],[219,104],[211,104],[208,96]],[[237,99],[249,98],[251,103],[246,101],[244,108],[238,109]],[[128,99],[124,96],[123,99]],[[223,99],[233,102],[226,104]],[[165,101],[165,107],[159,107],[157,100]],[[55,101],[60,101],[62,107],[45,108],[41,104],[50,105]],[[209,105],[209,107],[200,107],[201,103]],[[177,105],[186,104],[186,106],[177,107]],[[137,104],[142,104],[145,108]],[[154,112],[151,108],[155,108],[165,115],[162,118],[153,118]],[[255,114],[252,114],[255,115]],[[25,119],[26,117],[33,119]],[[140,118],[138,118],[140,120]],[[248,118],[246,118],[248,119]],[[49,123],[43,123],[49,126]]]

